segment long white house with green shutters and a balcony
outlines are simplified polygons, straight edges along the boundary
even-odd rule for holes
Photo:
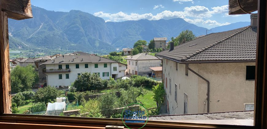
[[[83,72],[98,74],[102,79],[123,77],[126,65],[91,55],[60,56],[40,65],[47,76],[47,85],[61,88],[69,86]]]

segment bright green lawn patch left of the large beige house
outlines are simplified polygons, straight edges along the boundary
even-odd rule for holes
[[[157,107],[157,103],[153,99],[154,93],[152,92],[152,88],[144,88],[144,91],[146,91],[146,94],[137,97],[137,100],[140,101],[146,109]]]

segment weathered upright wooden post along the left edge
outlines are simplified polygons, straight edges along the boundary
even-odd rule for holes
[[[11,113],[11,87],[7,13],[0,11],[0,113]]]

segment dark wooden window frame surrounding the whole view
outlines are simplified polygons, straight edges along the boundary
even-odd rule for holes
[[[1,4],[2,1],[0,0]],[[11,1],[10,1],[11,2]],[[12,1],[13,2],[13,1]],[[4,2],[3,2],[4,3]],[[0,4],[0,7],[1,7]],[[26,4],[26,6],[30,7]],[[219,125],[205,123],[183,123],[172,121],[149,121],[145,128],[267,128],[267,24],[266,10],[267,2],[258,0],[258,27],[257,28],[257,54],[256,54],[256,78],[255,78],[255,100],[254,100],[254,126]],[[5,6],[7,7],[7,6]],[[22,5],[21,7],[24,7]],[[21,8],[28,11],[28,7]],[[6,9],[3,9],[6,10]],[[31,9],[30,9],[31,11]],[[25,17],[27,14],[22,11]],[[1,128],[104,128],[106,125],[123,126],[121,119],[110,118],[83,118],[68,116],[47,115],[22,115],[8,114],[11,112],[10,93],[10,69],[9,69],[9,43],[8,43],[8,18],[25,19],[16,17],[14,12],[8,16],[8,10],[0,8],[0,127]],[[140,127],[137,123],[129,123],[129,127]]]

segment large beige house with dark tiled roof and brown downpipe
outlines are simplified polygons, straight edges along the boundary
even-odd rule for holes
[[[157,53],[163,58],[169,114],[253,110],[256,27],[211,33],[175,47],[171,43]]]

